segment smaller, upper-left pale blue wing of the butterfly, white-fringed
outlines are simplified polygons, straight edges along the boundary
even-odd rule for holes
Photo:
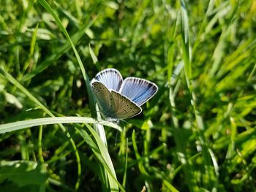
[[[102,82],[108,89],[119,91],[123,82],[123,77],[121,77],[118,70],[110,68],[97,73],[94,79],[91,80],[91,83],[95,81]]]

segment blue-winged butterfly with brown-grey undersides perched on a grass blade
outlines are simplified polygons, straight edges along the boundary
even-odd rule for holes
[[[120,72],[113,68],[97,73],[91,80],[91,86],[102,115],[113,120],[132,118],[140,114],[140,106],[158,90],[154,82],[138,77],[127,77],[123,80]]]

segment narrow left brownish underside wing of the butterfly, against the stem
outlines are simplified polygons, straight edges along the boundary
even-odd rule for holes
[[[98,81],[91,82],[91,85],[103,115],[105,117],[112,117],[115,115],[115,104],[108,88],[106,88],[102,82]]]

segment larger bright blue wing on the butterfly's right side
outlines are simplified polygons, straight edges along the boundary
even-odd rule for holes
[[[120,93],[141,106],[157,93],[157,85],[137,77],[127,77],[121,85]]]

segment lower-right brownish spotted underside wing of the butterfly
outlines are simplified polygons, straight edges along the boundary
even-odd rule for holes
[[[110,93],[113,97],[113,100],[115,101],[116,118],[132,118],[133,116],[138,115],[142,111],[137,104],[129,100],[126,96],[122,96],[116,91],[111,91]]]

